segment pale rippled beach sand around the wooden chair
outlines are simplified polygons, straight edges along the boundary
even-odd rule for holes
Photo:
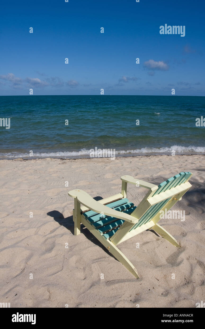
[[[0,302],[86,308],[193,308],[205,302],[205,156],[16,159],[1,160],[0,167]],[[122,175],[159,184],[181,171],[193,173],[192,188],[172,209],[185,210],[186,219],[161,219],[159,224],[182,247],[151,231],[118,246],[139,279],[83,225],[74,236],[69,190],[104,198],[120,192]],[[145,193],[128,185],[127,197],[135,205]]]

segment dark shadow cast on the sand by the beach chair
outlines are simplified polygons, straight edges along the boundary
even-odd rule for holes
[[[93,199],[96,201],[102,200],[101,196],[95,196]],[[64,215],[60,213],[58,210],[52,210],[47,213],[48,216],[53,217],[53,219],[59,223],[59,225],[63,225],[67,230],[69,230],[74,235],[74,221],[73,216],[69,216],[64,218]],[[93,235],[90,231],[81,224],[81,233],[85,235],[85,237],[92,241],[97,246],[101,247],[109,256],[115,258]]]

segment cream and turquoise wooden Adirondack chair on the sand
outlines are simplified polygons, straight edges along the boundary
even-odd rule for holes
[[[192,185],[188,180],[191,176],[191,172],[180,172],[158,186],[132,176],[122,176],[121,193],[99,201],[83,190],[69,191],[68,195],[74,198],[74,234],[80,234],[81,223],[85,225],[120,263],[139,278],[136,268],[116,245],[145,230],[154,230],[179,248],[177,241],[158,221],[162,211],[166,213],[190,189]],[[138,186],[148,189],[137,207],[126,198],[127,183],[136,185],[136,189]]]

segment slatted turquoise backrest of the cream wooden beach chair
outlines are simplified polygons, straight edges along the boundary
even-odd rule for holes
[[[158,189],[154,192],[152,197],[186,183],[190,179],[191,176],[192,176],[192,173],[189,171],[180,172],[179,174],[175,175],[174,177],[171,177],[171,178],[167,179],[167,181],[164,181],[163,183],[159,184]],[[190,185],[190,187],[191,187],[191,185]],[[137,224],[135,224],[130,231],[132,231],[132,230],[136,229],[137,227],[139,227],[143,224],[146,224],[150,220],[152,220],[161,211],[161,209],[166,206],[167,202],[169,202],[169,200],[171,198],[173,198],[173,196],[175,194],[176,194],[176,192],[173,192],[173,195],[169,196],[167,199],[164,199],[162,201],[160,200],[158,203],[150,206],[140,218],[138,217],[139,222]],[[144,202],[143,202],[143,204],[144,204]],[[139,208],[138,213],[141,210],[140,208],[143,207],[143,204],[140,203],[139,206],[137,207],[137,208]],[[136,213],[137,213],[137,209],[136,209]]]

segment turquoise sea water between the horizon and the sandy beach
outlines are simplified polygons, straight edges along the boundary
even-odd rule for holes
[[[0,158],[90,157],[90,149],[116,156],[205,154],[205,97],[0,96]],[[68,120],[68,126],[65,125]],[[140,120],[140,125],[136,125]]]

